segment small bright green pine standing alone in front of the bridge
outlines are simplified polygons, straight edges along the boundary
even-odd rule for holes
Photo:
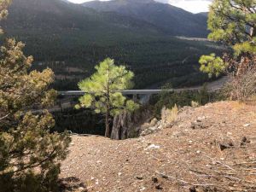
[[[79,83],[80,90],[85,92],[79,99],[82,108],[94,108],[96,113],[105,115],[105,137],[110,137],[110,117],[124,110],[133,111],[138,106],[119,92],[132,87],[134,74],[124,66],[115,66],[114,61],[106,59],[96,66],[96,73]]]

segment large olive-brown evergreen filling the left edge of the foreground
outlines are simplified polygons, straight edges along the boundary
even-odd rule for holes
[[[2,19],[9,2],[0,1]],[[70,138],[50,132],[55,121],[47,110],[32,113],[36,106],[53,104],[54,74],[50,69],[28,73],[32,56],[26,57],[23,48],[8,39],[0,52],[0,191],[58,191],[59,162]]]

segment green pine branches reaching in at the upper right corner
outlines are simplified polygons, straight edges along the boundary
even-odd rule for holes
[[[234,55],[201,56],[201,71],[210,75],[224,73],[229,67],[239,71],[241,62],[256,55],[256,0],[214,0],[208,18],[208,38],[231,46]],[[229,58],[229,59],[228,59]],[[230,61],[230,58],[232,61]],[[247,62],[250,63],[250,62]]]

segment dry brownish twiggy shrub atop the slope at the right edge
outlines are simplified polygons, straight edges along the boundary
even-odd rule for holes
[[[239,75],[230,75],[230,81],[224,85],[224,96],[231,100],[247,101],[256,95],[256,67],[247,67]]]

